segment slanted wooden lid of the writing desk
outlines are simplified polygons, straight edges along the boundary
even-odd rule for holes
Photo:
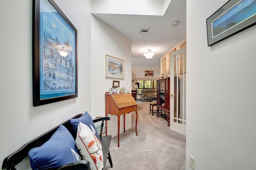
[[[105,95],[106,97],[109,96],[113,99],[118,109],[137,105],[136,101],[134,100],[134,98],[130,93],[121,93],[121,94],[112,94],[112,95],[106,93]]]

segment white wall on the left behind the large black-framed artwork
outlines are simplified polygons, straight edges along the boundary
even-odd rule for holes
[[[0,1],[0,162],[26,142],[91,110],[90,1],[55,2],[78,30],[78,97],[33,107],[32,0]]]

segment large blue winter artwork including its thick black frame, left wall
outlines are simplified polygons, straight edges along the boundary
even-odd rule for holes
[[[53,0],[33,0],[33,106],[78,97],[77,30]]]

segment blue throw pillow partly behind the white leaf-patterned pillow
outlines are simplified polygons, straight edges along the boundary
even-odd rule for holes
[[[78,127],[79,122],[84,123],[85,125],[87,125],[92,130],[92,132],[94,132],[95,136],[97,138],[99,138],[98,132],[97,132],[97,130],[95,128],[95,125],[92,121],[92,117],[89,115],[89,113],[87,111],[80,118],[70,119],[70,122],[72,123],[76,132],[77,132],[77,127]]]

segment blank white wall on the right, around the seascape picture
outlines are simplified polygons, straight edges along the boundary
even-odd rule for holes
[[[253,170],[256,26],[212,47],[206,19],[227,0],[187,0],[187,135],[196,170]],[[196,21],[196,22],[195,22]]]

